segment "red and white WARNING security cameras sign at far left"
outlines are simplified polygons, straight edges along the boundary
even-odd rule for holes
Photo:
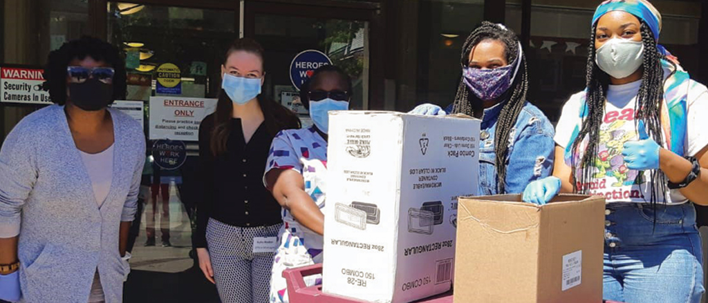
[[[44,70],[25,66],[0,66],[0,102],[50,105],[42,89]]]

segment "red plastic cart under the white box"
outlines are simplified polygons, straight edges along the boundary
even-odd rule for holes
[[[287,295],[291,303],[367,303],[357,299],[329,295],[322,292],[322,285],[307,287],[304,277],[322,273],[322,264],[287,269],[282,278],[287,280]],[[417,301],[418,303],[452,303],[452,292]]]

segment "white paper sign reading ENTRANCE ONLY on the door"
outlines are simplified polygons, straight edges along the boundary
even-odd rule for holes
[[[199,141],[199,124],[216,107],[216,99],[150,97],[150,140]]]

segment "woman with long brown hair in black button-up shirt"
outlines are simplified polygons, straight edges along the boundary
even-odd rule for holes
[[[263,60],[254,40],[229,47],[217,110],[199,130],[204,191],[195,246],[222,302],[268,302],[282,220],[280,205],[263,186],[263,171],[275,134],[299,127],[295,114],[261,95]]]

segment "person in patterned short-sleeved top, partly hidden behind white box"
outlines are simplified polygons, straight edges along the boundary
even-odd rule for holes
[[[300,90],[313,126],[281,131],[273,139],[265,186],[282,206],[283,226],[270,278],[270,302],[288,302],[282,271],[322,262],[327,173],[327,112],[348,109],[352,83],[336,66],[323,66]],[[321,276],[305,279],[321,283]]]

